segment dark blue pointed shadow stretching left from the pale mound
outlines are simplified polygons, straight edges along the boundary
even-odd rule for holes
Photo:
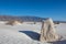
[[[30,36],[32,40],[40,41],[40,34],[33,31],[19,31],[22,33],[25,33],[28,36]]]

